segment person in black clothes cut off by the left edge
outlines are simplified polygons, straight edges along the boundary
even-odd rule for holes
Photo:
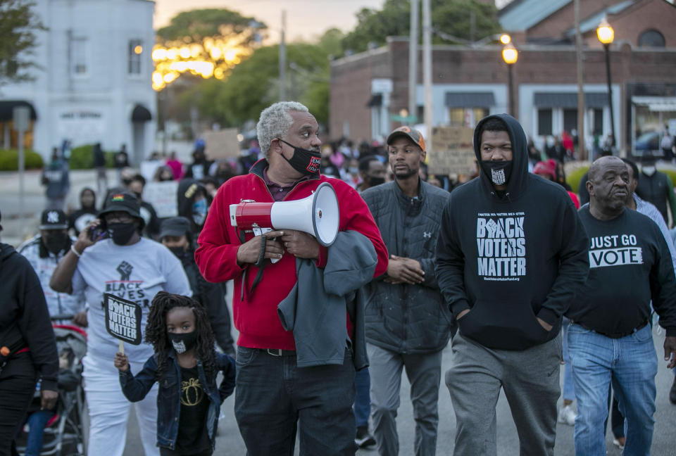
[[[18,455],[14,437],[37,378],[42,410],[56,405],[58,355],[37,274],[6,243],[0,243],[0,296],[0,455]]]

